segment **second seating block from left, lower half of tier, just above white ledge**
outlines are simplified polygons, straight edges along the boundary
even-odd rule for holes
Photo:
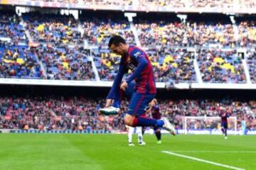
[[[83,47],[46,45],[36,50],[46,68],[47,79],[95,80],[92,61]]]

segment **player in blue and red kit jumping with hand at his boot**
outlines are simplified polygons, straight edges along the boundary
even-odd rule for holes
[[[131,98],[128,111],[124,115],[126,125],[164,128],[175,135],[174,126],[166,118],[156,120],[146,118],[143,115],[144,108],[156,96],[153,67],[146,52],[138,47],[128,45],[124,38],[119,35],[113,35],[108,46],[112,52],[122,57],[117,76],[114,78],[114,84],[107,95],[105,108],[100,109],[100,113],[105,115],[117,114],[120,99],[125,93]],[[131,76],[122,81],[124,73],[127,73],[129,69],[132,71]]]

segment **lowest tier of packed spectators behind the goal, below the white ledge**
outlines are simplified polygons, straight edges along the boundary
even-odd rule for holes
[[[104,106],[102,98],[83,97],[1,97],[0,128],[39,130],[124,130],[123,115],[128,101],[122,101],[119,115],[103,116],[98,109]],[[245,120],[247,129],[256,130],[256,101],[235,99],[177,99],[159,100],[160,111],[174,123],[176,129],[184,128],[184,116],[218,116],[221,111],[236,116],[238,129]],[[215,128],[214,121],[190,120],[188,128]],[[219,121],[218,121],[219,123]],[[234,121],[230,121],[233,127]]]

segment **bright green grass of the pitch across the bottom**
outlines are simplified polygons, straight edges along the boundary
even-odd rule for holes
[[[176,152],[211,162],[256,169],[256,136],[171,135],[156,144],[154,135],[145,135],[146,146],[128,147],[127,135],[1,134],[0,169],[227,169],[176,157]],[[206,153],[201,151],[215,151]],[[250,151],[218,153],[216,151]]]

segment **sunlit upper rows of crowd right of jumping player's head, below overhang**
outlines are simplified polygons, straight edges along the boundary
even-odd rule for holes
[[[168,21],[139,21],[136,25],[143,47],[250,47],[256,42],[255,21],[241,22],[238,33],[230,23],[187,23]]]

